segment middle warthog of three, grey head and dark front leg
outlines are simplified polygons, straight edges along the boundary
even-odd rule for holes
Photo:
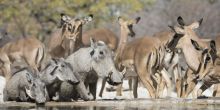
[[[47,66],[41,71],[40,78],[46,84],[50,99],[53,96],[59,98],[60,85],[63,81],[67,81],[70,84],[79,83],[70,64],[65,62],[63,58],[50,60]]]

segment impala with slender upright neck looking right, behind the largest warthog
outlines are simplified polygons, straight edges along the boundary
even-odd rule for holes
[[[124,67],[131,69],[130,65],[129,65],[129,67],[125,66],[125,65],[122,65],[122,63],[121,63],[122,60],[121,59],[122,59],[122,57],[124,57],[123,56],[123,54],[125,52],[124,49],[125,49],[126,45],[128,44],[128,36],[131,36],[131,37],[135,36],[135,32],[133,31],[133,25],[137,24],[140,19],[141,19],[140,17],[137,17],[134,20],[125,20],[122,17],[118,17],[118,23],[120,25],[121,36],[120,36],[119,44],[118,44],[116,52],[115,52],[114,62],[115,62],[116,67],[120,71],[122,71],[122,69],[124,69]],[[134,69],[132,68],[132,70],[134,70]],[[102,92],[103,92],[103,89],[104,89],[104,86],[105,86],[105,82],[106,81],[104,79],[103,83],[102,83],[101,91],[99,93],[99,96],[102,96]],[[136,95],[137,87],[134,87],[133,90],[136,90],[136,92],[133,91],[133,94],[134,94],[134,97],[137,98],[137,95]],[[121,96],[122,95],[121,92],[122,92],[122,84],[118,85],[117,91],[116,91],[116,96]]]

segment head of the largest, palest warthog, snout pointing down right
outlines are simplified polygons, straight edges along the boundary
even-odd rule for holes
[[[94,40],[90,38],[90,42],[92,47],[90,52],[92,68],[96,71],[98,76],[107,78],[108,83],[111,85],[122,83],[123,73],[116,70],[112,51],[102,41],[94,42]]]

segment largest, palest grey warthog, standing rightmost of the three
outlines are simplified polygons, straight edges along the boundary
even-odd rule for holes
[[[79,73],[80,83],[76,88],[80,97],[84,100],[92,100],[93,97],[95,98],[98,77],[107,78],[107,82],[111,85],[122,83],[123,78],[122,73],[115,68],[112,52],[108,46],[101,41],[94,42],[90,39],[90,42],[90,47],[81,48],[66,59],[66,61],[71,64],[74,72]],[[95,71],[96,74],[90,74],[93,71]],[[91,78],[94,80],[91,81]],[[91,97],[89,91],[86,90],[84,83],[89,85],[93,97]],[[68,89],[67,85],[65,85],[65,87],[66,88],[63,89]],[[81,89],[80,92],[79,88]],[[82,91],[82,88],[84,91]],[[65,92],[67,91],[68,90],[65,90]]]

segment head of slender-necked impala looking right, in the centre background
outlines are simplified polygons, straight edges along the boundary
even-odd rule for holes
[[[134,37],[135,32],[133,31],[133,25],[137,24],[140,21],[141,17],[137,17],[132,20],[124,20],[122,17],[118,17],[118,23],[121,28],[127,33],[129,36]]]

